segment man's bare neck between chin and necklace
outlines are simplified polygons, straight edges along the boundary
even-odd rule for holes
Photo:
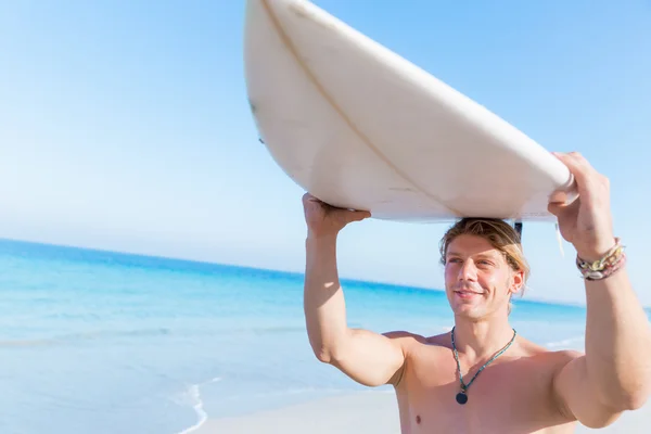
[[[471,360],[490,358],[513,337],[507,316],[481,321],[455,317],[455,345]]]

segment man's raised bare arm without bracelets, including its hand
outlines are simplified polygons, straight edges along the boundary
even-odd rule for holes
[[[315,355],[360,384],[395,384],[405,362],[401,339],[407,334],[349,329],[336,267],[340,230],[369,213],[333,208],[309,194],[303,201],[308,225],[304,308]]]

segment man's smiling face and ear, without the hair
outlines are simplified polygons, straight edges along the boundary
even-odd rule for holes
[[[482,319],[503,310],[508,315],[510,295],[523,283],[505,255],[484,238],[459,235],[446,253],[445,288],[457,316]]]

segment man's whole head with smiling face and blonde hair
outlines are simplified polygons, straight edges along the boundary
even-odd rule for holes
[[[508,316],[528,266],[518,233],[499,220],[464,219],[442,240],[445,288],[456,316],[473,320]]]

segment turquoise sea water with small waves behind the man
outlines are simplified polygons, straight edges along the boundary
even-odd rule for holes
[[[190,433],[365,390],[319,363],[303,278],[0,241],[0,433]],[[352,327],[441,333],[439,291],[344,281]],[[519,301],[519,333],[583,348],[585,310]]]

